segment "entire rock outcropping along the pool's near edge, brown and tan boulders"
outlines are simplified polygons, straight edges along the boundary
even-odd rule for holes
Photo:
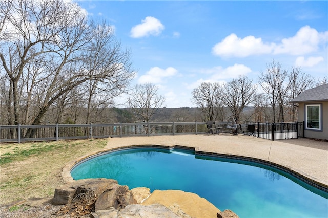
[[[85,179],[55,189],[53,205],[74,216],[101,217],[238,217],[221,212],[197,194],[179,190],[150,193],[149,188],[129,190],[112,179]]]

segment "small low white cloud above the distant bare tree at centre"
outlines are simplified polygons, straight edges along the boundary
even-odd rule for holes
[[[138,83],[153,83],[159,84],[162,83],[163,78],[172,77],[177,74],[177,70],[172,67],[168,67],[167,69],[161,69],[159,67],[153,67],[149,71],[146,72],[145,75],[140,76],[138,79]]]

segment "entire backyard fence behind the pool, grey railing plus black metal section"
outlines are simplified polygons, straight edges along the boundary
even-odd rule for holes
[[[224,132],[227,122],[219,122]],[[303,123],[238,122],[237,133],[264,139],[304,137]],[[28,136],[28,130],[33,135]],[[230,131],[227,129],[227,131]],[[109,138],[127,136],[156,136],[206,134],[206,122],[158,122],[114,124],[54,124],[0,126],[0,142],[58,141],[67,139]]]

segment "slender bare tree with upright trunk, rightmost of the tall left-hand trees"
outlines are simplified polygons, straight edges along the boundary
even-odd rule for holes
[[[88,81],[88,111],[86,123],[96,122],[97,116],[108,105],[114,104],[114,98],[127,91],[127,83],[133,72],[130,62],[130,51],[121,51],[121,43],[115,40],[113,29],[103,23],[94,30],[94,40],[85,55],[87,70],[91,72]],[[127,71],[129,70],[129,71]],[[104,79],[97,77],[103,72],[110,72]],[[95,77],[95,78],[94,78]],[[93,112],[93,120],[91,120]]]

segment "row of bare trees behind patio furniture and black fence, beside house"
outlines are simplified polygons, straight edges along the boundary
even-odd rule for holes
[[[288,102],[305,90],[327,82],[327,78],[315,82],[300,67],[283,69],[275,60],[267,64],[266,71],[260,72],[258,80],[258,84],[253,84],[247,76],[240,75],[224,84],[201,83],[193,90],[192,101],[202,108],[207,120],[234,117],[236,121],[295,122],[298,105]],[[245,113],[247,106],[253,110]]]

